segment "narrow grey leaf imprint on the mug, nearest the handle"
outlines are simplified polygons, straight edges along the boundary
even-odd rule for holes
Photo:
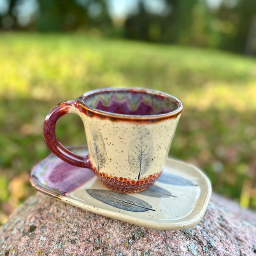
[[[90,144],[91,155],[96,164],[97,171],[99,171],[106,164],[107,151],[104,139],[98,130],[93,130]]]

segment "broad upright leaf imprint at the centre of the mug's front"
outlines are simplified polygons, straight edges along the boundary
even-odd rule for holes
[[[151,165],[154,154],[153,138],[147,128],[138,129],[129,147],[128,162],[130,169],[138,173],[137,179],[145,174]]]

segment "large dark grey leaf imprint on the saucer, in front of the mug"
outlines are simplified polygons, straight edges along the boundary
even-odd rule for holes
[[[132,195],[121,194],[105,189],[86,189],[86,192],[95,199],[110,206],[133,212],[155,211],[152,206],[142,199]]]

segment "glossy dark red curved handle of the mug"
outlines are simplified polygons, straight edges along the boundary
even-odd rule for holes
[[[54,153],[57,157],[61,158],[63,161],[69,164],[91,169],[88,161],[88,155],[83,157],[73,153],[72,151],[67,149],[65,146],[63,146],[56,136],[56,131],[55,131],[56,122],[61,116],[68,113],[73,113],[78,115],[78,113],[75,111],[69,112],[71,107],[73,106],[75,107],[76,105],[77,105],[77,102],[75,100],[70,100],[70,101],[62,102],[58,104],[55,108],[50,110],[44,122],[43,133],[44,133],[47,146],[52,151],[52,153]],[[77,108],[75,108],[75,110],[77,110]]]

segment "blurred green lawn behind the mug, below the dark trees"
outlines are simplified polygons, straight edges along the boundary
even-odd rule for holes
[[[52,107],[107,86],[180,98],[184,110],[170,156],[204,170],[214,191],[238,200],[244,180],[256,181],[255,59],[84,35],[15,33],[0,34],[0,56],[0,183],[28,173],[49,154],[42,125]],[[74,115],[58,122],[57,134],[64,145],[85,143]],[[1,202],[12,197],[6,187]],[[33,190],[26,191],[19,202]]]

